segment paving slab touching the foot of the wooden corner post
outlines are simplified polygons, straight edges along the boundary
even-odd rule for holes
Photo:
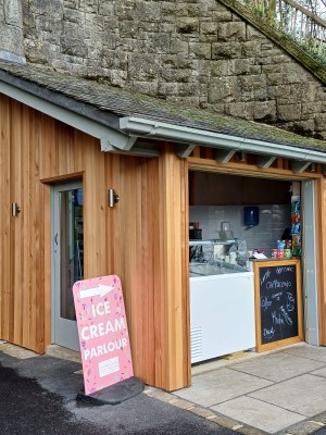
[[[221,403],[273,385],[272,382],[230,369],[221,369],[195,376],[192,386],[174,394],[203,407]]]

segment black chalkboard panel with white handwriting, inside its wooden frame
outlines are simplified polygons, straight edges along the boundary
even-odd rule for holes
[[[261,344],[299,335],[296,264],[259,269]]]

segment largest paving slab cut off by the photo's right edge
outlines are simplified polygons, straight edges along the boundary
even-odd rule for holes
[[[325,411],[326,380],[304,374],[250,393],[249,396],[301,415],[313,417]]]

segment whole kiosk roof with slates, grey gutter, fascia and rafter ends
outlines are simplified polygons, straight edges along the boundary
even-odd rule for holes
[[[154,157],[170,140],[184,158],[205,146],[224,163],[241,151],[262,167],[277,157],[292,160],[294,172],[326,164],[326,141],[30,64],[0,61],[0,92],[100,139],[102,151]]]

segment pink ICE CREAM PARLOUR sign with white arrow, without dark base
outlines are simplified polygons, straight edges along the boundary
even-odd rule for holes
[[[134,376],[121,281],[116,275],[73,286],[85,394]]]

